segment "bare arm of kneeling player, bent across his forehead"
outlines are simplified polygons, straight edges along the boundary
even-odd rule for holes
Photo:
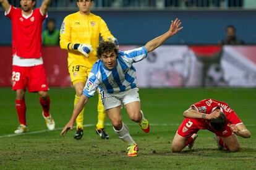
[[[195,119],[215,119],[220,116],[220,113],[213,112],[211,114],[200,113],[194,108],[189,108],[184,111],[183,116],[186,118],[195,118]]]

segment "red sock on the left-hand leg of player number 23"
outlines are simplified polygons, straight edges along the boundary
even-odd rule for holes
[[[19,117],[20,124],[27,125],[26,122],[26,103],[25,100],[15,100],[15,106]]]

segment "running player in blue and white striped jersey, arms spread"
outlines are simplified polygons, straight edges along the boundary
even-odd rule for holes
[[[72,129],[75,118],[79,115],[88,99],[99,88],[101,100],[106,114],[113,124],[114,132],[129,145],[127,156],[137,156],[139,150],[137,143],[130,136],[127,125],[121,119],[121,104],[123,103],[126,106],[130,119],[137,122],[144,132],[148,133],[150,131],[150,125],[140,108],[136,70],[132,64],[145,59],[148,53],[158,48],[182,28],[181,21],[176,19],[171,22],[168,32],[148,41],[145,46],[129,51],[118,51],[114,43],[102,41],[97,48],[99,60],[93,65],[83,89],[83,95],[80,96],[72,117],[62,130],[61,135]]]

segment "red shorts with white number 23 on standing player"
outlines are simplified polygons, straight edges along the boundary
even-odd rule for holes
[[[31,67],[12,66],[12,90],[48,91],[43,64]]]

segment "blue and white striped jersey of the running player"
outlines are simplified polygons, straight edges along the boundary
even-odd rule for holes
[[[90,98],[97,88],[109,94],[136,88],[138,82],[132,63],[145,59],[147,54],[144,46],[129,51],[119,51],[116,67],[112,70],[107,69],[101,60],[96,61],[83,89],[83,95]]]

